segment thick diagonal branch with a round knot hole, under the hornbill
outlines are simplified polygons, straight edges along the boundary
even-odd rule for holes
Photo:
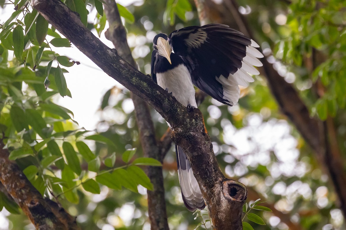
[[[221,173],[199,109],[189,112],[151,78],[138,72],[86,29],[59,0],[34,0],[31,5],[109,76],[146,101],[171,124],[172,139],[186,153],[209,210],[213,229],[242,229],[247,189]]]

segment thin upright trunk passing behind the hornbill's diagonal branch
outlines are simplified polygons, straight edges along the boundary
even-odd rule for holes
[[[106,38],[113,42],[120,57],[130,63],[133,67],[137,64],[132,57],[131,50],[127,43],[126,30],[122,26],[117,3],[106,0],[104,10],[109,22],[109,29],[106,31]],[[135,107],[137,125],[139,129],[140,141],[144,156],[151,157],[163,162],[161,149],[155,137],[154,124],[147,104],[138,96],[131,93],[131,98]],[[171,140],[170,140],[171,141]],[[147,190],[148,194],[148,215],[152,230],[168,230],[165,193],[163,186],[162,167],[147,167],[147,175],[153,183],[154,190]]]

